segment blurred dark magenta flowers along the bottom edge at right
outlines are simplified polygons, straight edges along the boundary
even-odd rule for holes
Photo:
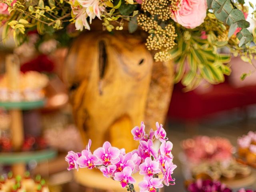
[[[192,182],[187,187],[188,192],[232,192],[225,184],[220,181],[212,180],[201,180],[198,179]],[[241,188],[237,192],[254,192],[251,189]]]

